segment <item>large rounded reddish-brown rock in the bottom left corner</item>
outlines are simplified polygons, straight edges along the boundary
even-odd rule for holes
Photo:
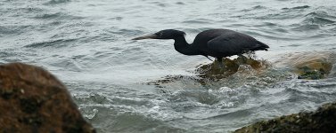
[[[0,132],[92,133],[69,92],[37,66],[0,66]]]

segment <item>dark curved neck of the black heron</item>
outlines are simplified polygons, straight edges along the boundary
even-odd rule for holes
[[[184,36],[176,37],[174,43],[175,50],[184,55],[200,55],[197,49],[193,47],[193,44],[189,44],[185,41]]]

